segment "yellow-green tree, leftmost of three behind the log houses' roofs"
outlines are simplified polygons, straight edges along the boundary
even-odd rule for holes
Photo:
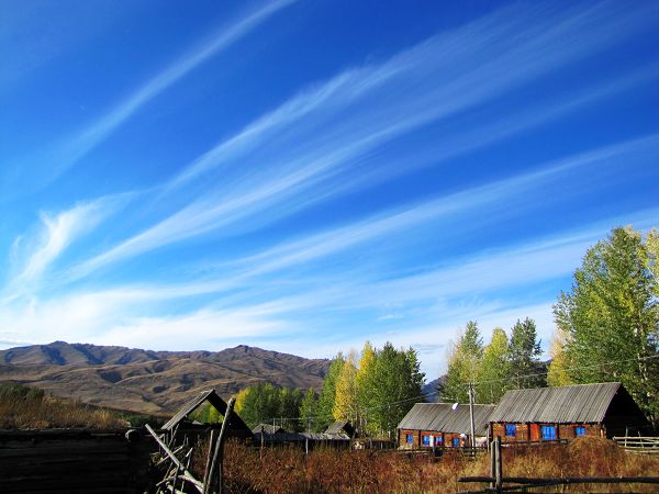
[[[446,377],[437,389],[439,400],[469,402],[469,383],[479,378],[482,356],[483,339],[478,324],[470,321],[458,343],[449,349]]]

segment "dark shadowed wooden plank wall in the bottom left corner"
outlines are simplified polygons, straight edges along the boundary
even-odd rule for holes
[[[0,431],[0,492],[143,493],[154,446],[125,433]]]

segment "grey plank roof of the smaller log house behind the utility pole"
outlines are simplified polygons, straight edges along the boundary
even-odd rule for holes
[[[488,418],[494,405],[473,405],[473,427],[477,436],[488,435]],[[435,430],[471,434],[469,405],[450,403],[416,403],[399,424],[399,429]]]

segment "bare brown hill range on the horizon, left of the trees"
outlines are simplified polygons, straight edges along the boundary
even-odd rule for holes
[[[176,412],[211,388],[224,396],[257,382],[319,390],[328,366],[326,359],[244,345],[222,351],[152,351],[55,341],[0,350],[0,381],[149,414]]]

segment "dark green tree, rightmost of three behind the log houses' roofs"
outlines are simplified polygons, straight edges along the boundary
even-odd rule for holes
[[[546,385],[539,356],[543,353],[537,339],[535,322],[526,317],[515,323],[511,332],[509,360],[514,383],[517,388],[540,388]]]

